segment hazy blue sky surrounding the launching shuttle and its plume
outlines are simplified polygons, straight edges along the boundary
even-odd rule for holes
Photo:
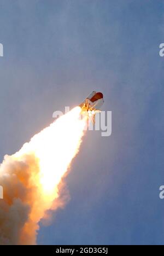
[[[164,243],[162,1],[0,0],[0,159],[104,93],[113,132],[87,132],[66,178],[71,201],[38,244]]]

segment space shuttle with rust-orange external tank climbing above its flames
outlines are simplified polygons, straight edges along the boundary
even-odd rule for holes
[[[81,114],[87,114],[89,118],[92,118],[93,123],[95,123],[95,115],[104,103],[102,92],[92,91],[85,100],[79,105],[81,108]]]

